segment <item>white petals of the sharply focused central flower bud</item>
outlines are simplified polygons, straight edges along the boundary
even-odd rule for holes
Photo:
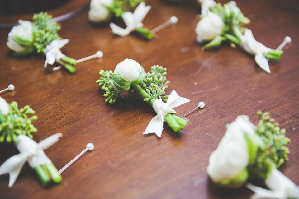
[[[119,74],[122,79],[130,82],[137,80],[141,72],[142,67],[133,59],[125,59],[117,64],[114,69],[114,73]]]

